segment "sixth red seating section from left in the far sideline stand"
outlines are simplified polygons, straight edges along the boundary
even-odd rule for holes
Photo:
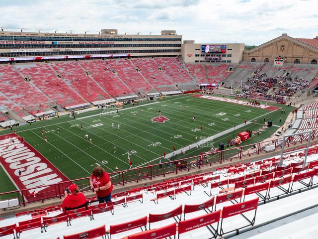
[[[171,82],[170,76],[164,70],[159,69],[159,65],[154,59],[138,58],[131,61],[159,92],[177,90]]]

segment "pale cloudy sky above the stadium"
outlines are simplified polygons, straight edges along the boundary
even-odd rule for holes
[[[318,0],[0,0],[7,31],[160,34],[196,43],[260,45],[282,33],[318,36]]]

